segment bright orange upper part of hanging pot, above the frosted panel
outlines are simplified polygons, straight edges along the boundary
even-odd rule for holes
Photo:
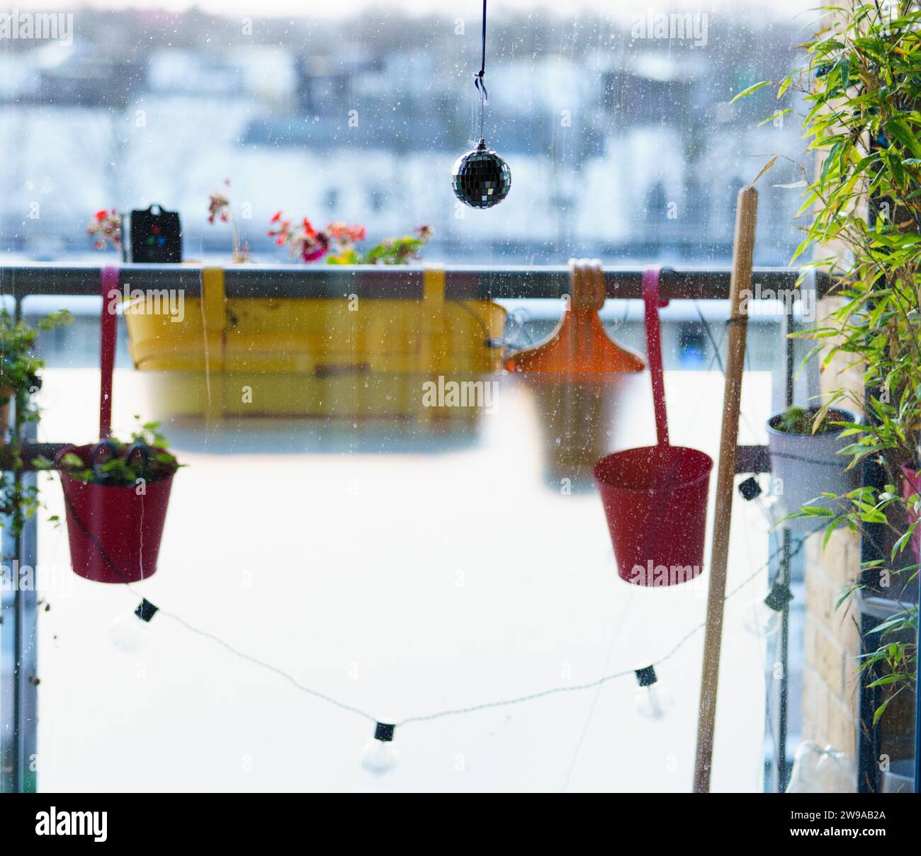
[[[600,261],[570,259],[569,281],[569,307],[553,335],[509,357],[507,370],[583,376],[643,371],[642,358],[612,341],[598,317],[604,306]]]

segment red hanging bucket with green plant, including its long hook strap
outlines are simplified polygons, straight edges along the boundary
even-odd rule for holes
[[[122,446],[110,438],[117,317],[109,309],[119,295],[118,289],[118,268],[103,268],[99,345],[102,439],[96,444],[68,446],[55,461],[64,489],[74,573],[97,583],[137,583],[157,571],[169,492],[179,466],[156,445],[135,442]]]

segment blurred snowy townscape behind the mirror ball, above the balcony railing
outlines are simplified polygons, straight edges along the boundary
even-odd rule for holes
[[[604,18],[496,16],[486,135],[513,188],[483,213],[459,209],[449,186],[474,135],[479,59],[478,34],[453,18],[241,27],[80,9],[71,45],[0,45],[0,246],[87,256],[93,212],[158,202],[181,212],[188,258],[217,260],[229,234],[208,226],[207,200],[229,179],[258,260],[284,259],[266,235],[284,209],[371,238],[428,223],[438,260],[711,263],[729,259],[736,191],[780,153],[757,246],[759,262],[782,264],[799,195],[772,185],[801,178],[796,122],[771,119],[769,96],[729,100],[794,64],[799,25],[756,8],[707,23],[696,45]]]

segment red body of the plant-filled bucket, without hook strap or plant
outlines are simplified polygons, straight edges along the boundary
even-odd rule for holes
[[[123,458],[142,453],[132,445]],[[111,441],[72,446],[58,456],[76,455],[87,469],[99,472],[103,453],[118,454]],[[161,453],[162,449],[152,449]],[[67,537],[74,573],[96,583],[137,583],[157,571],[157,556],[166,523],[175,466],[142,486],[94,483],[61,468],[67,510]],[[100,478],[104,478],[100,474]],[[140,492],[139,492],[140,491]]]

